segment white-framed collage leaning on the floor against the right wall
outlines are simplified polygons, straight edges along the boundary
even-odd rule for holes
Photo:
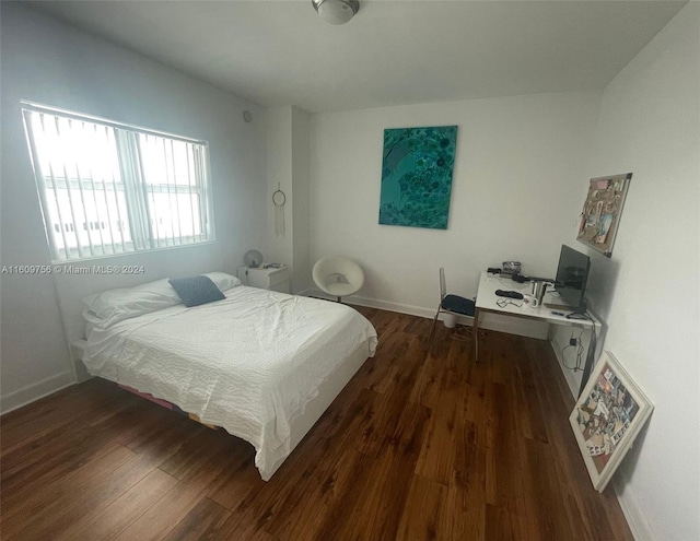
[[[620,363],[605,351],[569,416],[596,491],[605,490],[653,409]]]

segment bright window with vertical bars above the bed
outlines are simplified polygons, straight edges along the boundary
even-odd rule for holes
[[[54,260],[213,240],[206,141],[22,105]]]

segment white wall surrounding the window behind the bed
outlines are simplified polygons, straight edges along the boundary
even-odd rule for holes
[[[20,99],[205,139],[210,144],[218,243],[106,259],[144,264],[139,277],[2,275],[2,411],[73,381],[60,307],[79,296],[212,266],[230,272],[265,248],[265,137],[260,108],[16,3],[2,2],[1,263],[49,262]],[[245,124],[242,111],[254,121]],[[59,302],[60,301],[60,302]],[[71,318],[68,317],[67,320]]]

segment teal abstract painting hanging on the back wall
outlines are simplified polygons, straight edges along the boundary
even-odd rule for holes
[[[384,130],[380,224],[446,230],[456,126]]]

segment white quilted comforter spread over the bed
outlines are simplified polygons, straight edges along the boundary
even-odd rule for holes
[[[177,404],[255,446],[262,479],[291,452],[290,424],[318,386],[376,331],[348,306],[237,286],[91,328],[83,362],[97,376]]]

